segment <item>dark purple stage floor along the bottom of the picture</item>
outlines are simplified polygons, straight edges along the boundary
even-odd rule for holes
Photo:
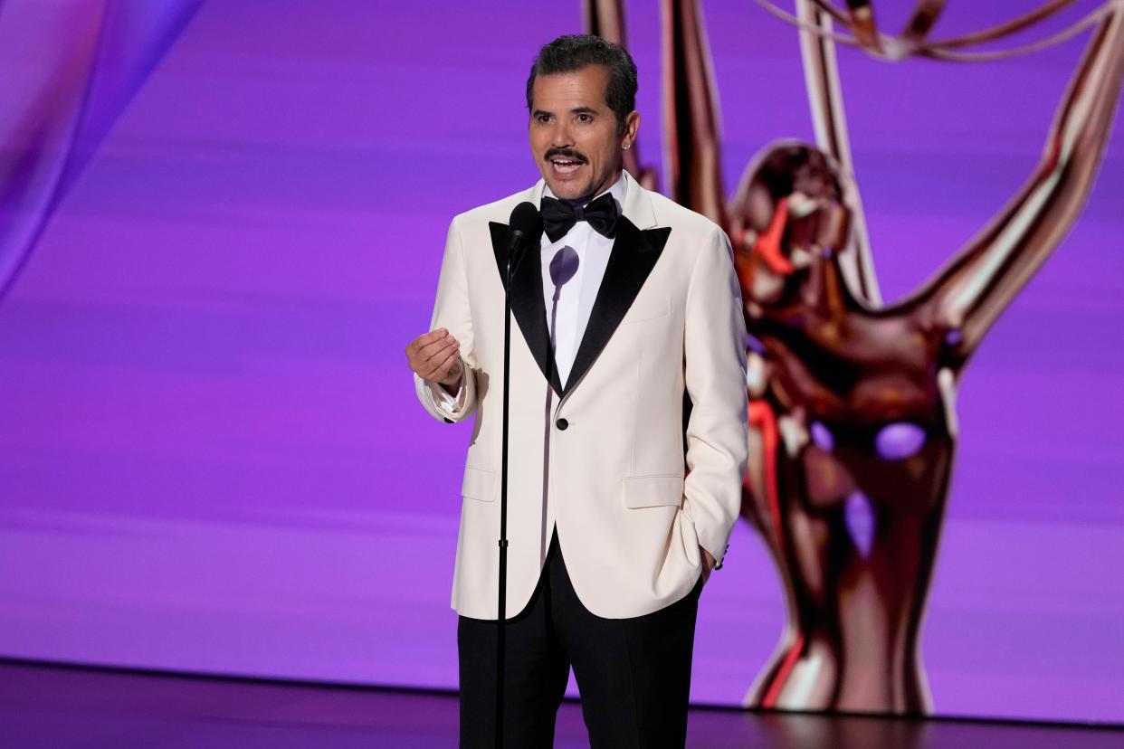
[[[438,749],[456,696],[0,660],[0,746]],[[554,746],[588,747],[578,703]],[[1100,749],[1124,728],[694,709],[691,749]],[[516,749],[516,748],[513,748]]]

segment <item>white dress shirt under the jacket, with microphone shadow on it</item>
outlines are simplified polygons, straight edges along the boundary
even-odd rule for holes
[[[622,173],[608,190],[595,195],[595,200],[607,192],[613,195],[620,212],[627,189],[628,183]],[[550,186],[543,189],[543,194],[554,198]],[[551,241],[543,232],[540,243],[543,305],[553,342],[554,362],[559,369],[559,382],[563,387],[586,334],[589,313],[601,287],[611,250],[613,239],[598,234],[588,221],[578,221],[558,241]],[[441,396],[442,404],[450,412],[456,413],[464,403],[464,375],[461,375],[456,395],[450,394],[439,385],[430,386],[429,390]]]

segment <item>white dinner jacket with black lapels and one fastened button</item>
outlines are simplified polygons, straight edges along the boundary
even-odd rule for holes
[[[511,280],[508,616],[529,601],[555,527],[582,604],[619,619],[690,592],[699,546],[720,563],[741,506],[745,323],[729,241],[625,179],[623,217],[564,389],[540,254],[525,253]],[[430,330],[446,328],[461,344],[463,407],[453,411],[435,398],[439,385],[415,376],[435,418],[475,417],[452,597],[473,619],[497,618],[507,221],[523,201],[537,207],[543,185],[450,226]]]

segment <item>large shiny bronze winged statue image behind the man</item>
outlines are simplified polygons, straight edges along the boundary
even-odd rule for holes
[[[623,29],[618,2],[593,4],[602,17],[616,8]],[[1109,0],[1082,21],[1093,33],[1033,173],[943,268],[883,304],[833,21],[867,52],[903,60],[999,38],[1066,4],[930,43],[944,2],[917,3],[905,31],[890,37],[870,2],[843,9],[798,0],[791,20],[817,144],[767,146],[726,201],[699,8],[662,0],[667,191],[722,225],[734,245],[751,334],[743,515],[772,552],[786,592],[781,642],[747,705],[932,712],[919,641],[955,456],[957,390],[988,329],[1085,205],[1124,79],[1124,0]]]

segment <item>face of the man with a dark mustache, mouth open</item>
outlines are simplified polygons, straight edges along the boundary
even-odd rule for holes
[[[558,198],[593,198],[620,174],[623,147],[635,139],[640,115],[631,112],[622,131],[605,103],[608,82],[604,65],[535,77],[531,153]]]

